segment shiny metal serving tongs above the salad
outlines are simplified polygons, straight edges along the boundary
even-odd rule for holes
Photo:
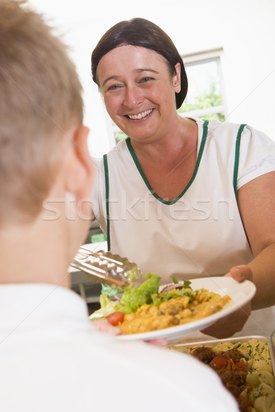
[[[119,255],[104,251],[92,252],[84,247],[78,249],[71,266],[102,284],[120,289],[130,284],[126,272],[136,267],[135,263]]]

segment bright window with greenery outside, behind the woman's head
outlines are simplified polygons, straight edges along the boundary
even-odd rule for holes
[[[188,78],[186,100],[178,109],[179,115],[199,119],[225,121],[226,108],[221,75],[222,49],[213,49],[183,56]],[[111,119],[110,139],[115,144],[126,137]]]

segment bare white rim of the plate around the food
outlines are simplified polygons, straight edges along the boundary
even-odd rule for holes
[[[171,326],[170,328],[161,330],[153,330],[152,332],[119,335],[117,336],[118,339],[122,341],[151,341],[152,339],[166,338],[168,339],[168,343],[176,343],[182,336],[207,328],[218,319],[241,308],[247,304],[256,293],[256,287],[252,282],[245,280],[239,283],[232,277],[203,277],[200,279],[192,279],[190,282],[193,290],[205,288],[210,292],[219,293],[221,296],[228,295],[231,297],[232,303],[219,312],[197,321],[185,323],[184,325]]]

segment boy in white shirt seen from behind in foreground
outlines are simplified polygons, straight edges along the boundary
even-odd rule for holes
[[[93,179],[76,70],[16,1],[0,1],[0,62],[1,410],[238,411],[191,356],[93,328],[67,273]]]

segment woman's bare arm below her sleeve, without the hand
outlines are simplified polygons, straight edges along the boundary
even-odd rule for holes
[[[243,185],[238,190],[238,205],[254,255],[248,264],[257,288],[252,309],[272,306],[275,304],[275,172]],[[232,268],[230,274],[234,271]]]

